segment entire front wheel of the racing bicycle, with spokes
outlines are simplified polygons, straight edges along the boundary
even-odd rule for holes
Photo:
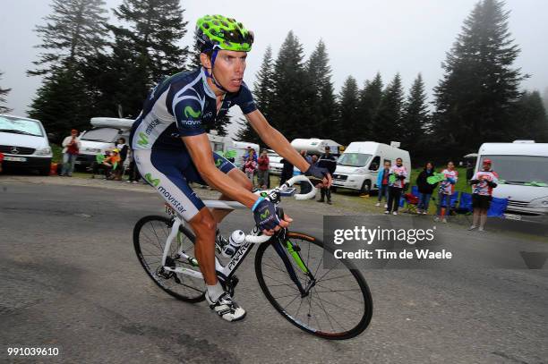
[[[324,267],[324,253],[332,254],[313,236],[287,233],[287,241],[261,244],[255,274],[267,300],[290,323],[325,339],[350,339],[364,332],[371,321],[371,292],[349,262],[336,260],[334,267]],[[288,274],[287,263],[306,292]]]

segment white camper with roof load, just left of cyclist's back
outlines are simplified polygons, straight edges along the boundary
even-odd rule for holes
[[[76,157],[75,165],[89,166],[95,161],[98,153],[115,148],[116,140],[123,137],[129,143],[129,133],[134,120],[118,119],[114,117],[93,117],[90,120],[92,129],[81,133],[80,154]]]

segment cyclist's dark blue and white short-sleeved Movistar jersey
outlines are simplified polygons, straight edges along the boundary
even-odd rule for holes
[[[217,118],[226,115],[235,105],[240,106],[244,114],[257,109],[245,83],[237,93],[226,94],[217,112],[215,94],[201,68],[177,73],[150,92],[133,123],[131,147],[134,150],[186,150],[181,137],[203,134],[204,126],[212,127]]]

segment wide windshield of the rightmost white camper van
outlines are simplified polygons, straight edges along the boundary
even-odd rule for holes
[[[548,157],[482,156],[480,168],[484,159],[492,160],[492,170],[507,183],[548,183]]]

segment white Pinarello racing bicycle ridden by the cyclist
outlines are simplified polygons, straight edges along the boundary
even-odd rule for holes
[[[295,194],[295,176],[273,190],[260,191],[275,204],[278,216],[282,197],[313,198],[316,189]],[[312,184],[312,183],[311,183]],[[235,201],[204,200],[206,207],[246,208]],[[168,216],[144,216],[133,229],[133,245],[141,266],[162,290],[178,300],[200,302],[206,286],[200,262],[194,257],[193,232],[184,220],[166,205]],[[266,299],[291,324],[321,338],[343,340],[364,332],[372,317],[372,297],[364,276],[352,262],[336,259],[326,265],[329,247],[308,233],[281,229],[273,236],[261,234],[255,226],[226,264],[216,246],[215,266],[223,288],[234,296],[239,282],[235,272],[258,244],[255,275]],[[226,260],[226,259],[225,259]]]

